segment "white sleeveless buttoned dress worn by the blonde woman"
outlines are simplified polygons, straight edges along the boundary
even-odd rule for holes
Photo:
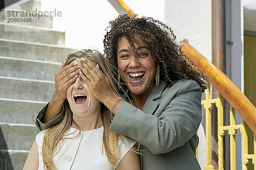
[[[42,144],[46,130],[36,135],[38,147],[39,167],[44,170],[42,158]],[[79,133],[79,130],[71,127],[64,138],[72,138]],[[119,158],[122,159],[130,148],[136,143],[131,138],[121,136],[126,146],[119,139]],[[81,135],[73,139],[64,139],[61,150],[53,157],[53,162],[58,170],[113,170],[103,147],[103,126],[87,131],[81,131]],[[117,159],[116,164],[120,160]]]

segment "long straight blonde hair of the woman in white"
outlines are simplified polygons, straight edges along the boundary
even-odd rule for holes
[[[73,54],[68,54],[65,65],[70,64],[74,59],[84,57],[94,64],[98,64],[100,70],[105,74],[105,76],[110,80],[111,87],[113,91],[117,94],[114,79],[113,79],[113,71],[111,71],[111,67],[108,65],[107,60],[100,54],[98,51],[92,50],[84,50],[78,51]],[[55,164],[53,162],[53,156],[55,156],[63,145],[63,140],[65,133],[70,127],[74,124],[76,127],[78,125],[73,120],[73,113],[70,109],[70,105],[67,102],[67,99],[64,101],[64,118],[57,125],[50,127],[47,129],[46,134],[44,136],[44,142],[42,146],[42,156],[44,161],[44,168],[47,170],[56,170]],[[110,110],[105,106],[101,105],[102,111],[102,119],[103,119],[103,145],[105,148],[105,153],[107,155],[108,161],[112,164],[113,167],[116,167],[116,159],[119,159],[118,156],[118,140],[119,134],[109,130],[111,124],[111,113]],[[78,127],[79,129],[79,127]],[[77,136],[79,136],[81,131]],[[76,136],[75,136],[76,137]],[[58,149],[57,149],[58,148]],[[102,150],[103,151],[103,150]]]

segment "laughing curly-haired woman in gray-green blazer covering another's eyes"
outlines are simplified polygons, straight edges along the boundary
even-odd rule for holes
[[[152,18],[120,15],[110,22],[104,47],[123,98],[90,62],[80,68],[93,96],[115,115],[110,130],[140,142],[143,170],[199,170],[196,132],[209,83],[175,43],[172,30]],[[54,103],[58,111],[52,112]],[[50,104],[38,118],[60,121],[61,101]],[[39,119],[37,124],[45,126]]]

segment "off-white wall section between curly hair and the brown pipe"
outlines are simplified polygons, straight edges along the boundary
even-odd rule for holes
[[[165,23],[212,61],[211,0],[165,0]]]

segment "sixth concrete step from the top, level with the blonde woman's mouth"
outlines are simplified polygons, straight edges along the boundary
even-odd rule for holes
[[[48,102],[55,90],[53,81],[0,76],[0,98]]]

